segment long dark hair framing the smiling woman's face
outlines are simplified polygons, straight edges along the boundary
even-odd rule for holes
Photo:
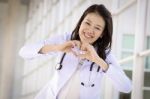
[[[111,50],[112,45],[112,34],[113,34],[113,25],[112,25],[112,16],[111,13],[105,8],[104,5],[94,4],[88,7],[83,15],[81,16],[80,20],[78,21],[75,29],[72,31],[71,40],[80,40],[79,37],[79,28],[84,20],[84,18],[89,13],[97,13],[103,17],[105,21],[105,28],[102,33],[102,37],[99,37],[94,43],[93,46],[97,48],[97,53],[102,59],[106,59],[106,55]],[[107,51],[106,51],[107,50]]]

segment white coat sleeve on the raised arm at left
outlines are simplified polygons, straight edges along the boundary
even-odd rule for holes
[[[40,54],[39,51],[44,45],[48,44],[61,44],[67,40],[69,40],[70,35],[64,34],[64,35],[56,35],[54,37],[50,37],[49,39],[39,41],[35,44],[25,44],[19,51],[19,55],[23,57],[24,59],[33,59],[38,56],[44,56],[44,55],[56,55],[56,52],[49,52],[47,54]]]

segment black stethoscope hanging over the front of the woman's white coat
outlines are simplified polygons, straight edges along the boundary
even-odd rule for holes
[[[56,70],[61,70],[61,69],[62,69],[62,67],[63,67],[62,63],[63,63],[63,60],[64,60],[65,55],[66,55],[66,53],[64,53],[64,54],[62,55],[60,62],[55,66],[55,69],[56,69]],[[88,78],[88,83],[85,83],[85,82],[81,81],[81,85],[84,86],[84,87],[94,87],[94,86],[95,86],[94,81],[96,80],[97,75],[98,75],[98,73],[99,73],[99,71],[100,71],[100,66],[97,67],[96,76],[94,77],[93,81],[91,81],[91,76],[92,76],[91,73],[92,73],[94,64],[95,64],[95,63],[92,62],[92,63],[91,63],[91,66],[90,66],[90,69],[89,69],[90,74],[89,74],[89,78]],[[79,62],[79,65],[82,66],[82,65],[83,65],[83,61]],[[93,83],[92,83],[92,82],[93,82]]]

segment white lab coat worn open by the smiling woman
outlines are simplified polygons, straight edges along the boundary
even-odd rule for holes
[[[32,59],[37,56],[41,56],[42,54],[39,54],[39,50],[46,44],[61,44],[67,40],[70,40],[70,34],[66,34],[63,36],[55,36],[52,38],[49,38],[45,41],[40,41],[36,44],[31,45],[25,45],[21,48],[19,54],[23,58]],[[50,52],[48,55],[54,55],[55,52]],[[93,66],[93,70],[91,72],[91,81],[95,84],[94,87],[84,87],[80,86],[80,99],[101,99],[100,98],[100,85],[101,80],[104,75],[108,76],[111,80],[113,85],[116,89],[118,89],[121,92],[128,93],[131,91],[131,81],[130,79],[125,75],[123,70],[120,68],[119,64],[117,63],[116,58],[112,55],[110,52],[107,55],[106,62],[109,63],[109,68],[107,72],[103,72],[100,69],[100,72],[97,73],[97,67],[98,65]],[[57,99],[57,95],[59,94],[59,91],[65,83],[69,80],[69,78],[72,76],[74,71],[77,68],[77,65],[79,63],[79,60],[77,57],[75,57],[73,54],[69,53],[66,54],[64,61],[63,61],[63,67],[61,70],[56,70],[54,73],[53,78],[48,82],[47,85],[38,93],[38,95],[35,97],[35,99]],[[80,70],[80,81],[88,83],[89,75],[90,75],[90,68],[91,62],[85,61],[84,64],[81,67]],[[95,79],[96,77],[96,79]],[[95,80],[94,80],[95,79]]]

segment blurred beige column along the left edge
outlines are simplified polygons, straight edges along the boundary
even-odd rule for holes
[[[22,14],[20,14],[20,2],[20,0],[8,0],[8,12],[4,19],[5,28],[3,32],[3,44],[1,45],[0,99],[12,99],[13,96],[14,71],[17,60],[16,49],[18,45],[17,40],[19,39],[18,29],[21,27],[19,23],[22,16]]]

